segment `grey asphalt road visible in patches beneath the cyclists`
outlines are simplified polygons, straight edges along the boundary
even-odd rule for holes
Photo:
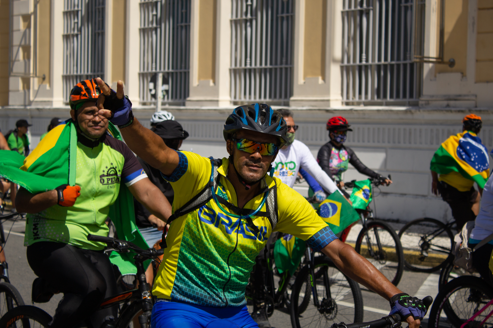
[[[7,239],[5,253],[9,266],[8,272],[11,283],[19,290],[24,302],[26,304],[32,304],[31,286],[36,276],[29,267],[26,259],[26,247],[24,247],[23,237],[24,224],[24,220],[19,220],[14,223],[12,233]],[[5,232],[9,231],[10,225],[11,224],[8,222],[3,225]],[[439,272],[429,274],[405,271],[398,287],[403,292],[413,296],[423,298],[427,295],[431,295],[434,298],[438,293],[438,276]],[[365,309],[363,317],[364,321],[380,319],[388,314],[390,307],[384,298],[363,288],[362,295]],[[55,295],[48,303],[35,305],[48,312],[50,315],[53,315],[61,298],[62,295]],[[425,320],[425,323],[426,322],[427,321]],[[279,310],[274,312],[273,316],[270,318],[270,323],[274,328],[291,327],[289,314]],[[423,327],[426,327],[426,324],[424,324]]]

